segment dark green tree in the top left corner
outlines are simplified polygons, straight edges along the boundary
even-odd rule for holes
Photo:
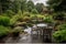
[[[6,12],[9,9],[10,2],[10,0],[0,0],[1,12]]]

